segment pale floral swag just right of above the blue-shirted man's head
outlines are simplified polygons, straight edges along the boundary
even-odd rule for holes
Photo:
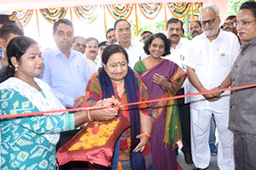
[[[97,5],[84,5],[80,7],[73,7],[74,14],[76,14],[79,20],[87,24],[90,24],[96,20],[98,16],[97,9]]]

